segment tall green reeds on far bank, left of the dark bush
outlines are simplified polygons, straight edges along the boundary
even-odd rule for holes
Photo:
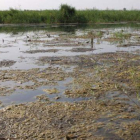
[[[0,11],[0,23],[55,23],[57,17],[56,10],[21,11],[11,9]]]

